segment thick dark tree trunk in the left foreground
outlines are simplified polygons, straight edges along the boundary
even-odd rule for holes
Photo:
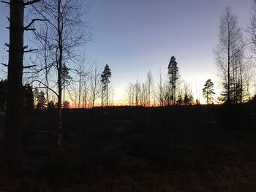
[[[22,137],[21,105],[23,76],[23,0],[10,1],[10,47],[7,82],[5,163],[15,169],[20,165]]]

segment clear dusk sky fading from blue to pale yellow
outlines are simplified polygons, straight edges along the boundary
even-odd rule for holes
[[[194,96],[203,101],[206,80],[219,84],[214,63],[219,23],[225,7],[238,16],[238,24],[246,28],[252,0],[87,0],[91,8],[93,39],[85,48],[89,58],[110,66],[115,101],[121,103],[129,82],[146,80],[150,70],[154,80],[159,69],[167,74],[170,57],[178,62],[181,79],[191,85]],[[7,62],[4,42],[7,8],[0,7],[0,62]],[[1,68],[0,68],[1,69]],[[1,75],[1,70],[0,70]]]

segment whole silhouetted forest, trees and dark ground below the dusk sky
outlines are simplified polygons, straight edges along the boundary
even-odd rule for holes
[[[195,95],[179,58],[166,55],[167,74],[148,70],[119,104],[111,64],[81,49],[93,39],[89,6],[1,3],[10,42],[1,63],[0,191],[255,191],[255,0],[246,29],[223,7],[219,93],[208,77]]]

